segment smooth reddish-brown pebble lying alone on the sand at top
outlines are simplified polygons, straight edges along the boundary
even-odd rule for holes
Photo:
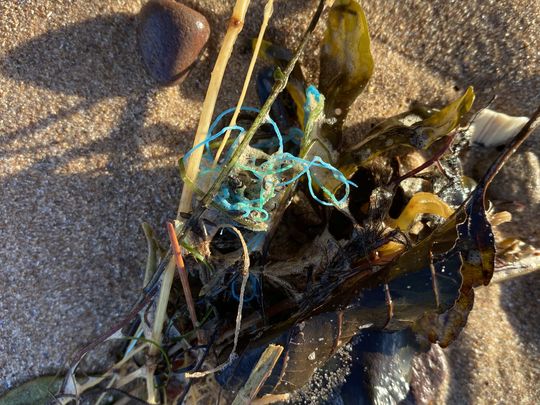
[[[161,85],[183,81],[210,36],[206,18],[173,0],[151,0],[141,9],[139,50],[148,73]]]

